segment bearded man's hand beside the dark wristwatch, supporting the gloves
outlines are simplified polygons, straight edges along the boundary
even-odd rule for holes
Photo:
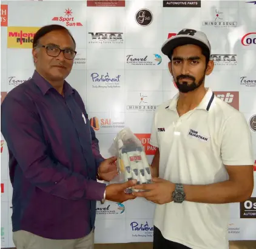
[[[144,197],[148,201],[157,204],[165,204],[172,202],[172,192],[175,190],[175,184],[161,178],[152,178],[151,184],[139,184],[134,189],[143,189],[143,192],[133,192],[132,195],[136,197]]]

